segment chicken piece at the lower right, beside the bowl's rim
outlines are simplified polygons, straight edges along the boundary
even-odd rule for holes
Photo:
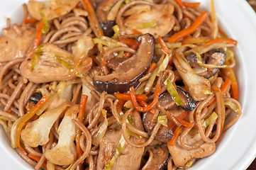
[[[194,140],[199,140],[200,135],[190,138],[187,143],[194,143]],[[169,153],[172,155],[172,160],[177,167],[183,167],[189,160],[194,158],[208,157],[215,152],[215,143],[203,143],[196,149],[187,150],[181,147],[179,142],[180,137],[174,146],[168,145]],[[187,139],[188,140],[188,139]]]

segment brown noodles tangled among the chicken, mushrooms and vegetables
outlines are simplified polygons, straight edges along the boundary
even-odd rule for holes
[[[184,30],[186,28],[189,28],[192,23],[196,20],[196,18],[204,11],[203,9],[196,7],[196,8],[190,8],[185,7],[181,8],[176,1],[174,0],[168,0],[167,1],[170,4],[174,5],[174,19],[175,19],[175,26],[173,30],[165,35],[163,40],[167,42],[168,38],[173,35],[174,33],[179,32],[180,30]],[[157,3],[165,3],[165,2],[148,2],[148,1],[130,1],[127,4],[123,5],[116,15],[116,23],[119,27],[119,38],[136,38],[138,37],[138,34],[134,33],[131,35],[126,35],[124,32],[124,24],[123,24],[123,18],[122,13],[126,11],[126,9],[130,8],[130,6],[135,6],[138,4],[157,4]],[[95,3],[96,4],[96,3]],[[93,5],[95,5],[93,4]],[[24,17],[23,21],[26,21],[29,18],[29,14],[26,8],[26,5],[23,6],[24,8]],[[81,4],[79,4],[78,8],[83,8]],[[213,14],[212,14],[213,16]],[[95,38],[96,35],[94,33],[95,26],[91,26],[91,23],[89,23],[89,20],[87,16],[76,16],[73,11],[67,13],[65,16],[55,18],[52,21],[50,21],[50,26],[48,33],[43,34],[43,37],[40,41],[40,44],[43,44],[45,42],[52,43],[54,45],[57,45],[58,47],[62,48],[63,50],[67,50],[69,52],[72,52],[72,46],[75,45],[77,40],[81,38],[82,35],[88,35],[91,38]],[[36,28],[36,24],[30,23],[27,25],[27,27],[33,27]],[[19,27],[17,25],[13,25],[13,27],[16,27],[18,30]],[[7,22],[7,28],[11,28],[11,22],[8,20]],[[204,24],[202,24],[194,33],[191,34],[191,37],[193,38],[201,38],[201,37],[214,37],[216,38],[216,35],[222,34],[221,31],[218,30],[218,26],[212,21],[212,18],[208,16]],[[156,38],[156,44],[159,45],[159,40]],[[225,43],[222,43],[223,49],[227,49],[228,45]],[[206,49],[206,52],[211,50],[213,47],[222,47],[221,45],[212,45],[208,49]],[[169,47],[175,52],[183,53],[186,52],[189,49],[195,48],[199,46],[199,44],[185,44],[185,45],[179,45],[175,47]],[[116,47],[112,48],[109,51],[106,51],[106,53],[111,54],[113,52],[134,52],[133,49],[130,47]],[[155,48],[155,55],[161,56],[162,50],[161,47]],[[129,145],[133,145],[136,147],[147,147],[152,143],[153,140],[155,140],[155,134],[157,130],[159,130],[161,124],[156,123],[154,130],[152,131],[151,135],[148,135],[147,132],[144,132],[142,130],[138,130],[136,128],[130,127],[126,124],[126,118],[128,118],[128,115],[130,114],[133,109],[132,104],[129,105],[127,103],[125,106],[120,107],[119,100],[113,95],[113,94],[107,94],[106,92],[99,93],[94,89],[93,85],[93,77],[95,74],[95,70],[98,72],[101,72],[101,74],[108,74],[109,70],[106,65],[102,65],[102,51],[99,51],[98,47],[94,47],[93,50],[89,53],[89,57],[93,59],[93,69],[89,70],[86,77],[77,77],[76,79],[73,79],[71,81],[68,81],[69,84],[73,84],[72,86],[72,98],[71,102],[75,104],[80,103],[80,98],[82,95],[82,86],[86,86],[87,89],[90,91],[90,104],[87,105],[84,113],[84,120],[79,121],[77,118],[74,119],[74,122],[77,126],[77,128],[81,132],[81,137],[79,141],[74,141],[76,145],[79,145],[81,147],[83,154],[77,158],[77,160],[71,164],[70,166],[58,166],[55,165],[55,169],[95,169],[96,167],[96,160],[99,154],[99,146],[94,146],[91,144],[91,140],[94,138],[96,133],[101,128],[101,125],[104,123],[104,118],[102,116],[102,110],[106,110],[108,112],[107,120],[108,120],[108,128],[111,125],[119,125],[117,122],[120,121],[121,125],[120,128],[122,128],[123,137],[125,138],[126,142]],[[107,55],[106,55],[107,56]],[[1,84],[1,92],[0,92],[0,115],[1,122],[4,125],[4,130],[6,132],[6,135],[10,138],[10,132],[11,127],[13,123],[23,115],[26,115],[26,113],[30,110],[30,108],[33,108],[33,104],[30,101],[30,96],[32,96],[37,89],[41,89],[44,86],[52,86],[52,84],[55,84],[56,82],[49,82],[45,84],[35,84],[28,79],[21,76],[19,66],[21,62],[23,62],[25,58],[18,58],[16,60],[12,60],[10,62],[4,62],[1,63],[1,69],[0,69],[0,84]],[[159,60],[159,57],[158,59]],[[157,60],[155,62],[157,62]],[[229,77],[228,72],[226,72],[226,69],[233,69],[235,67],[235,60],[231,59],[230,62],[226,63],[227,67],[223,68],[218,72],[215,76],[211,77],[211,86],[217,86],[218,89],[221,89],[221,87],[224,84],[224,81],[227,77]],[[182,69],[182,68],[181,68]],[[168,76],[169,80],[172,81],[173,84],[175,84],[176,77],[174,74],[174,65],[168,65],[167,68],[162,71],[155,79],[155,82],[150,87],[150,91],[148,93],[145,93],[144,87],[145,84],[148,83],[149,79],[145,76],[143,81],[140,82],[140,85],[137,87],[136,91],[142,91],[142,94],[146,94],[148,96],[148,103],[150,103],[150,100],[154,97],[154,91],[155,91],[155,84],[160,84],[161,86],[161,94],[165,91],[167,91],[164,81],[165,77]],[[148,75],[150,77],[151,74]],[[215,100],[215,98],[223,98],[223,100]],[[212,102],[213,101],[213,102]],[[232,108],[229,106],[225,106],[223,108],[223,102],[233,103],[238,111],[235,111],[237,114],[234,115],[232,112]],[[222,110],[221,110],[222,109]],[[161,108],[160,106],[156,106],[155,110],[157,113],[160,111],[162,113],[167,113],[165,111],[165,108]],[[228,118],[230,115],[230,118],[227,123],[223,126],[223,129],[221,129],[222,122],[221,119],[217,119],[213,122],[211,122],[210,125],[208,125],[208,128],[204,130],[202,128],[202,123],[206,118],[208,118],[208,115],[211,115],[213,111],[217,113],[219,117],[221,117],[221,114],[223,114],[223,110],[225,112],[225,117]],[[232,114],[230,114],[232,113]],[[212,93],[208,95],[208,97],[204,101],[199,101],[196,103],[196,108],[194,108],[193,111],[189,111],[187,114],[187,122],[191,123],[191,128],[185,128],[182,127],[182,131],[179,133],[179,142],[182,148],[190,150],[190,149],[196,149],[200,147],[203,143],[214,143],[218,142],[218,139],[220,135],[230,128],[240,117],[241,113],[241,107],[240,103],[233,98],[233,93],[231,90],[231,87],[228,87],[228,90],[225,94],[221,94],[218,90],[213,90]],[[167,113],[168,114],[168,113]],[[33,117],[32,119],[28,120],[32,121],[35,120],[38,117]],[[26,150],[24,152],[20,148],[16,148],[16,152],[26,161],[28,164],[31,164],[35,167],[35,169],[46,169],[45,163],[47,164],[48,160],[45,159],[45,151],[50,149],[52,146],[55,146],[58,140],[58,132],[57,129],[60,125],[60,121],[62,118],[59,118],[53,125],[52,129],[50,130],[50,140],[46,145],[39,146],[39,147],[29,147],[26,145],[26,143],[22,143],[21,146],[23,149]],[[168,121],[172,121],[169,120]],[[180,126],[177,121],[174,120],[174,123],[176,125]],[[25,125],[24,125],[25,127]],[[194,143],[194,145],[189,145],[185,142],[185,137],[189,134],[191,129],[194,127],[198,128],[198,132],[201,136],[201,140]],[[130,132],[133,132],[137,135],[140,135],[140,137],[145,138],[145,143],[141,145],[135,145],[133,142],[129,140],[128,135],[126,134],[126,129],[129,129]],[[222,131],[222,132],[221,132]],[[148,166],[150,162],[152,161],[152,154],[150,154],[150,149],[147,151],[148,153],[148,160],[146,160],[145,164],[143,166]],[[35,157],[30,157],[31,155]],[[36,159],[37,158],[37,159]],[[144,168],[144,169],[145,169]],[[167,162],[167,166],[165,169],[178,169],[179,167],[175,167],[172,162],[172,155],[169,155],[169,159]]]

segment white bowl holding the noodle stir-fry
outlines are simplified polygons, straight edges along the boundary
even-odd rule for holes
[[[11,18],[11,23],[20,23],[24,2],[27,1],[1,1],[0,28],[6,27],[6,18]],[[209,11],[210,0],[200,2],[201,7]],[[238,123],[223,134],[216,152],[196,162],[191,170],[246,169],[256,156],[256,15],[245,0],[214,2],[221,28],[230,38],[238,40],[234,49],[237,61],[235,72],[243,112]],[[1,169],[33,169],[10,147],[3,128],[0,128],[0,165]]]

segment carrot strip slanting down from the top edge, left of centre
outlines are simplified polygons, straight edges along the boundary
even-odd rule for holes
[[[99,25],[99,20],[96,16],[94,8],[91,6],[91,2],[89,0],[84,0],[84,4],[87,7],[88,11],[88,19],[91,26],[91,29],[94,31],[97,37],[101,37],[104,35],[101,26]]]

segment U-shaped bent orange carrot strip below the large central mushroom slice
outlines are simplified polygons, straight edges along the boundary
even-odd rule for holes
[[[137,111],[140,111],[140,112],[148,112],[148,111],[151,111],[152,108],[155,107],[155,105],[157,104],[157,101],[158,101],[158,98],[160,96],[160,89],[161,89],[161,86],[160,84],[157,84],[155,86],[155,94],[154,94],[154,98],[153,98],[153,101],[152,103],[150,103],[148,106],[146,107],[141,107],[138,105],[137,101],[136,101],[136,96],[135,96],[135,91],[134,91],[134,88],[133,86],[130,87],[130,96],[132,98],[132,101],[133,101],[133,106],[137,109]]]

